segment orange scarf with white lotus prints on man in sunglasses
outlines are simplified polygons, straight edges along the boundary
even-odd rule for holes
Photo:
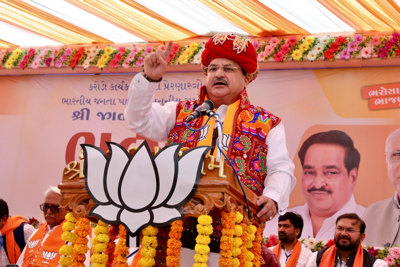
[[[61,254],[58,250],[62,245],[65,245],[65,241],[61,239],[64,220],[48,237],[44,242],[43,238],[46,233],[47,223],[44,223],[36,233],[30,238],[26,245],[24,260],[22,261],[22,267],[28,266],[58,266]],[[43,264],[44,263],[44,264]]]

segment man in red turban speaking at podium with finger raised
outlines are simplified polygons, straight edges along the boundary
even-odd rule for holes
[[[246,88],[258,75],[257,54],[250,40],[234,34],[216,34],[206,42],[202,52],[202,70],[207,75],[196,101],[168,102],[164,106],[154,102],[156,83],[166,73],[172,41],[165,51],[157,50],[146,56],[142,73],[132,80],[125,109],[125,121],[132,131],[151,140],[168,140],[168,144],[184,143],[184,147],[214,146],[218,137],[214,119],[202,131],[193,132],[184,126],[186,118],[204,100],[214,102],[216,113],[224,124],[222,143],[225,154],[238,171],[239,178],[258,196],[257,205],[263,206],[257,217],[260,222],[271,220],[276,213],[284,214],[289,194],[296,184],[294,164],[288,158],[286,138],[281,119],[250,104]],[[189,126],[199,129],[207,118],[192,120]],[[214,125],[215,124],[215,125]],[[216,155],[216,149],[211,153]],[[268,153],[268,156],[267,156]],[[213,222],[212,237],[218,240],[218,222]],[[194,230],[196,227],[194,227]],[[194,239],[182,233],[184,247],[193,246]],[[197,234],[196,234],[197,235]],[[196,235],[193,235],[196,238]],[[191,239],[187,241],[186,239]],[[194,243],[192,243],[194,242]],[[219,252],[219,246],[211,252]],[[193,251],[193,255],[194,255]],[[181,261],[182,261],[181,254]],[[208,263],[217,263],[209,253]],[[213,265],[209,265],[213,266]],[[218,266],[218,265],[216,265]]]

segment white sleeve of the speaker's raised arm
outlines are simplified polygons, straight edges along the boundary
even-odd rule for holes
[[[175,125],[176,105],[164,106],[154,102],[157,83],[150,83],[140,73],[130,83],[124,118],[128,127],[137,134],[154,141],[166,141]]]

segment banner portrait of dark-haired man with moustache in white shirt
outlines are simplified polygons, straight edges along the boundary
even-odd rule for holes
[[[302,238],[314,237],[324,243],[332,239],[335,221],[344,213],[361,216],[353,190],[358,178],[360,153],[343,131],[313,134],[302,144],[298,156],[303,168],[302,188],[306,204],[289,208],[304,220]],[[275,223],[275,224],[274,224]],[[276,220],[266,224],[264,236],[276,234]]]

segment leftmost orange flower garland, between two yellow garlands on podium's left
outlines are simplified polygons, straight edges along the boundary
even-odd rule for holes
[[[79,217],[75,225],[76,241],[72,244],[74,253],[72,254],[73,262],[71,267],[85,267],[85,254],[89,250],[87,236],[91,227],[90,221],[88,218]]]

